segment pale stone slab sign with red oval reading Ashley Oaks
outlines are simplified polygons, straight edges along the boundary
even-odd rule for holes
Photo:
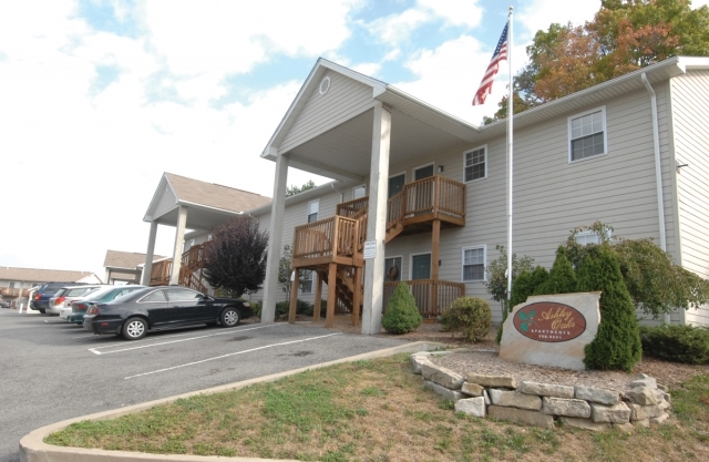
[[[584,347],[598,332],[599,299],[600,292],[527,298],[514,307],[503,325],[500,358],[585,370]]]

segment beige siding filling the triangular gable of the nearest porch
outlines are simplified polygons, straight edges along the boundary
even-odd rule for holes
[[[330,76],[330,89],[320,94],[318,82],[318,88],[278,147],[280,152],[288,152],[372,106],[371,86],[335,71],[327,75]]]

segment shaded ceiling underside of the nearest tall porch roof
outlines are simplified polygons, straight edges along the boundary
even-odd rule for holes
[[[369,110],[295,147],[290,165],[336,179],[369,176],[374,111]],[[391,110],[389,163],[395,165],[464,142],[400,111]]]

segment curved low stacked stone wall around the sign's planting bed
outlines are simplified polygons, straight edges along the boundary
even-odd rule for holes
[[[662,423],[671,408],[667,388],[645,374],[628,383],[627,391],[574,384],[522,381],[513,377],[466,377],[436,366],[430,358],[449,352],[423,351],[411,356],[424,387],[455,402],[455,412],[553,429],[558,422],[586,430],[625,431]]]

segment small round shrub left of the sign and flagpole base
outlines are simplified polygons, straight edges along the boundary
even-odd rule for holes
[[[441,325],[446,332],[463,332],[467,341],[480,341],[492,326],[490,304],[477,297],[458,298],[443,310]]]

